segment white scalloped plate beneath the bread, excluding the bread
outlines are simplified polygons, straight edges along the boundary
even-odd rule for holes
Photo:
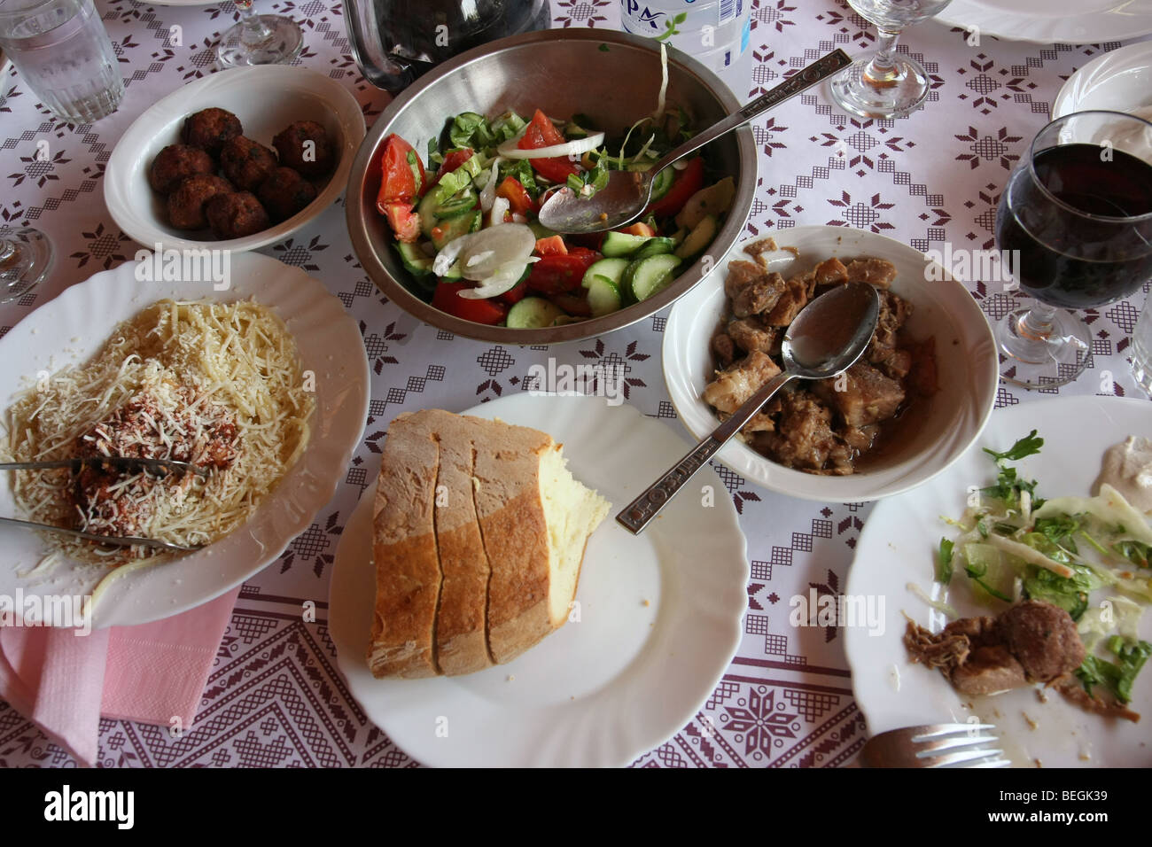
[[[423,764],[627,765],[691,720],[740,644],[749,570],[732,500],[705,469],[632,536],[615,513],[685,449],[667,426],[584,396],[517,394],[467,414],[547,431],[576,478],[612,501],[584,554],[581,620],[468,676],[374,679],[364,657],[376,592],[370,487],[340,540],[329,591],[348,689]],[[713,507],[700,505],[703,485]]]

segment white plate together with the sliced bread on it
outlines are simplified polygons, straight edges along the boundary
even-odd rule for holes
[[[680,731],[740,643],[736,511],[706,469],[643,536],[607,516],[683,451],[596,396],[393,422],[329,591],[365,714],[439,766],[623,766]]]

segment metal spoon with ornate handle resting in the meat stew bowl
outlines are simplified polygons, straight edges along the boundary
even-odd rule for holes
[[[866,282],[836,286],[805,305],[785,333],[780,348],[785,369],[628,504],[616,521],[632,535],[639,535],[684,483],[780,388],[794,379],[828,379],[851,368],[867,347],[879,316],[880,296]]]

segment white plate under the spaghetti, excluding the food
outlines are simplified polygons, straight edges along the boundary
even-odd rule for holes
[[[316,375],[316,411],[304,455],[252,519],[209,547],[109,584],[93,611],[93,626],[130,626],[167,618],[222,595],[272,562],[332,499],[367,417],[367,358],[356,322],[341,302],[297,267],[258,254],[232,256],[229,290],[210,282],[141,282],[135,262],[67,288],[0,339],[0,408],[35,380],[90,357],[113,327],[165,297],[225,302],[255,297],[272,307],[296,339],[305,370]],[[6,477],[10,475],[6,474]],[[0,482],[0,514],[16,515],[12,489]],[[100,568],[63,562],[47,576],[21,577],[47,552],[36,532],[0,528],[0,595],[85,595]]]

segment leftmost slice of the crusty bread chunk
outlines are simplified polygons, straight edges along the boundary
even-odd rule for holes
[[[439,445],[401,415],[388,428],[373,509],[376,613],[367,664],[374,676],[434,676],[440,598],[433,505]]]

